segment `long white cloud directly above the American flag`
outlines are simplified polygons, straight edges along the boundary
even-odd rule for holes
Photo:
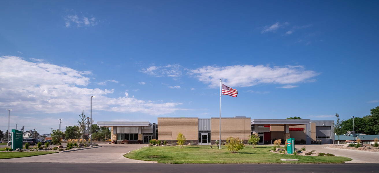
[[[204,66],[190,71],[191,75],[210,87],[219,87],[222,83],[229,87],[248,87],[258,84],[294,84],[312,82],[310,78],[319,75],[312,70],[298,66],[232,65],[225,67]]]

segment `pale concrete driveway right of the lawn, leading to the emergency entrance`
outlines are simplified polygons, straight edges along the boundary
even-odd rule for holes
[[[379,163],[379,153],[369,152],[369,151],[356,151],[356,150],[345,150],[345,149],[335,149],[328,148],[329,145],[295,145],[296,148],[305,147],[307,150],[316,150],[317,152],[332,153],[335,156],[345,156],[353,159],[346,163]],[[379,170],[378,170],[379,172]]]

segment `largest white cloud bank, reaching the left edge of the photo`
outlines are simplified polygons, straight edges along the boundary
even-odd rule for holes
[[[180,110],[182,103],[151,103],[134,97],[107,97],[114,89],[91,89],[86,86],[91,72],[44,62],[29,62],[16,56],[0,57],[0,107],[19,112],[81,112],[88,107],[89,97],[93,110],[114,112],[141,112],[161,115]],[[116,82],[114,80],[108,80]]]

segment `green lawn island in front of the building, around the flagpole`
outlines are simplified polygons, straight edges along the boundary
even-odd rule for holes
[[[238,153],[230,153],[225,146],[221,149],[209,146],[143,147],[125,154],[130,159],[158,161],[173,164],[227,164],[227,163],[342,163],[351,161],[348,157],[336,156],[299,156],[271,153],[272,146],[247,146]],[[299,159],[298,162],[280,159]]]

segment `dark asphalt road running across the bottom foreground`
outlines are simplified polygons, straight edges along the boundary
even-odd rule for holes
[[[6,173],[33,172],[39,170],[53,173],[120,173],[120,172],[238,172],[238,173],[377,173],[379,164],[112,164],[112,163],[0,163]]]

